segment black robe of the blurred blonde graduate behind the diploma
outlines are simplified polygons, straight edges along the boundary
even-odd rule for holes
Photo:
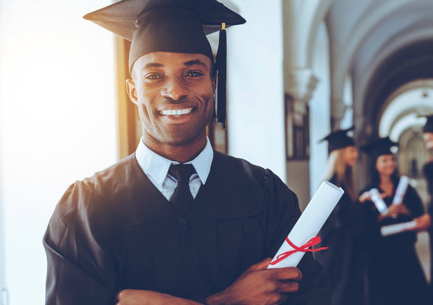
[[[315,252],[314,258],[328,270],[333,305],[363,305],[362,211],[336,174],[329,181],[344,194],[318,233],[322,241],[317,247],[329,249]]]

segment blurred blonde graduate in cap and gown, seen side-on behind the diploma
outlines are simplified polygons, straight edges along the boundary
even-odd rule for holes
[[[361,243],[361,210],[354,190],[354,166],[358,149],[348,132],[337,130],[321,141],[328,141],[328,165],[323,179],[341,187],[338,201],[318,236],[327,251],[314,253],[314,258],[327,270],[331,279],[332,304],[364,304],[363,252]]]

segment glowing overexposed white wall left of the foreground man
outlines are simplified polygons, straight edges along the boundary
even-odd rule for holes
[[[113,36],[82,19],[109,4],[0,3],[0,223],[13,305],[44,303],[42,236],[63,192],[116,161]]]

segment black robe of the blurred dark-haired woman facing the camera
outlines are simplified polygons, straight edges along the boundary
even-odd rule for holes
[[[378,189],[369,185],[362,192]],[[387,206],[392,204],[392,196],[384,198]],[[383,237],[380,228],[384,225],[407,222],[424,213],[422,202],[411,186],[403,197],[403,204],[411,216],[387,218],[377,221],[379,212],[373,202],[366,201],[364,207],[364,234],[368,246],[368,282],[370,305],[428,304],[427,283],[415,251],[416,232],[402,232]]]

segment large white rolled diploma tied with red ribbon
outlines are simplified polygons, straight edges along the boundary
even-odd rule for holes
[[[293,245],[301,247],[308,240],[317,236],[317,233],[330,216],[343,193],[344,191],[341,188],[337,188],[328,181],[323,181],[321,183],[317,192],[314,194],[313,198],[311,198],[310,203],[307,205],[301,217],[297,220],[288,235],[288,238]],[[280,254],[291,250],[294,249],[284,241],[272,261],[276,260]],[[293,253],[277,264],[267,266],[267,268],[296,267],[304,254],[304,252]]]

